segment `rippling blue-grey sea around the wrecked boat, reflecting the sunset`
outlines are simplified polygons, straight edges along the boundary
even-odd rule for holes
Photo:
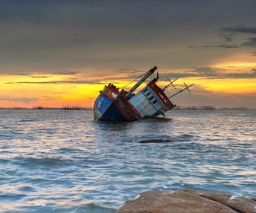
[[[0,212],[110,213],[141,192],[256,196],[256,110],[0,110]]]

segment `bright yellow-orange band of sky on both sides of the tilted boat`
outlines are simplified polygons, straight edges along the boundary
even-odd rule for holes
[[[228,65],[228,64],[226,64]],[[229,64],[225,68],[220,68],[224,74],[246,74],[253,72],[253,68],[245,67],[246,63],[239,66]],[[240,71],[240,72],[238,72]],[[89,72],[89,71],[88,71]],[[219,72],[219,71],[218,71]],[[140,75],[140,74],[138,74]],[[219,75],[219,74],[218,74]],[[94,100],[98,97],[99,91],[104,85],[115,84],[120,89],[129,90],[133,84],[129,84],[133,79],[126,78],[127,73],[113,73],[107,77],[97,74],[97,77],[87,72],[78,72],[75,75],[54,75],[54,74],[35,74],[35,75],[2,75],[0,79],[0,107],[62,107],[67,105],[79,105],[91,107]],[[154,78],[154,77],[152,77]],[[149,82],[152,79],[147,80]],[[184,88],[183,81],[187,85],[195,84],[190,87],[192,94],[214,94],[214,98],[223,94],[241,94],[254,97],[256,94],[255,78],[221,78],[221,76],[209,77],[187,77],[175,81],[178,89]],[[88,82],[88,83],[87,83]],[[158,80],[159,87],[165,87],[169,82],[162,78]],[[129,85],[127,85],[129,84]],[[142,84],[138,89],[145,87]],[[171,87],[171,86],[170,86]],[[174,93],[174,88],[168,88],[170,94]],[[138,90],[137,90],[138,91]],[[179,97],[181,98],[181,97]],[[190,103],[193,104],[193,103]]]

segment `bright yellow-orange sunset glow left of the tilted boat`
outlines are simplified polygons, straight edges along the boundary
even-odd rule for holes
[[[81,76],[67,78],[62,75],[2,75],[0,107],[93,106],[105,84],[86,84],[78,79]],[[94,79],[86,78],[86,81]],[[125,83],[119,81],[117,87],[122,87]]]

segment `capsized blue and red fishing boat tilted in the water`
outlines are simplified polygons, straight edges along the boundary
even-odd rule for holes
[[[157,67],[155,66],[146,72],[129,91],[120,90],[120,88],[111,83],[105,86],[94,102],[94,119],[105,121],[135,121],[138,119],[155,118],[159,115],[165,116],[165,112],[176,106],[171,103],[170,97],[167,97],[165,94],[165,89],[171,84],[174,86],[173,82],[178,78],[174,81],[168,79],[170,84],[161,89],[156,84],[159,78],[157,73],[157,77],[146,84],[146,87],[136,94],[133,93],[156,69]],[[193,85],[191,84],[188,87]],[[185,88],[178,91],[178,93],[186,89],[189,91],[188,87],[185,84]],[[176,94],[173,94],[171,97]]]

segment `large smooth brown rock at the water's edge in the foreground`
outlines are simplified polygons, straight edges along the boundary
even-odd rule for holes
[[[216,213],[256,212],[256,199],[194,190],[142,192],[121,206],[117,213]]]

